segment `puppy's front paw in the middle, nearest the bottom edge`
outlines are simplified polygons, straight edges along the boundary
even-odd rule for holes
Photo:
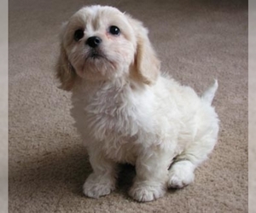
[[[138,183],[131,187],[129,192],[130,196],[133,199],[136,199],[139,202],[152,201],[154,199],[159,199],[163,197],[166,193],[166,187],[160,184],[150,184],[150,183]]]

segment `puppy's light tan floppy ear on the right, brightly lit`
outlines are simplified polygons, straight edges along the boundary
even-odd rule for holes
[[[160,74],[160,60],[157,59],[154,49],[148,39],[148,30],[143,23],[128,18],[134,28],[137,39],[135,67],[132,76],[146,84],[153,84]]]

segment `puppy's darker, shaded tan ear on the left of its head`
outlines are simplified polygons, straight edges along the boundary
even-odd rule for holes
[[[63,45],[61,44],[61,54],[56,65],[56,78],[61,82],[61,89],[70,91],[77,78],[77,74],[67,59],[67,54]]]

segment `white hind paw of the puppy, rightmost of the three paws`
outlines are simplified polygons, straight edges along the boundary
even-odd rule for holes
[[[168,187],[182,188],[194,181],[194,169],[189,167],[189,164],[187,162],[173,164],[169,171]]]

